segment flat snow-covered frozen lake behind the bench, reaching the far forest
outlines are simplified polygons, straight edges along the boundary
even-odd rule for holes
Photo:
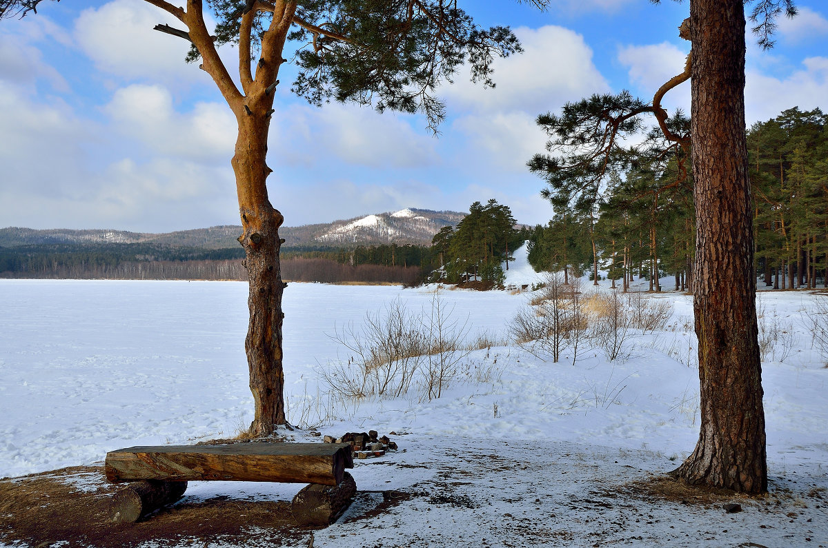
[[[127,445],[235,435],[252,418],[244,336],[246,283],[0,281],[0,477],[103,459]],[[442,291],[478,329],[503,331],[522,300]],[[400,298],[398,286],[290,284],[286,392],[315,393],[313,369],[336,358],[326,335]]]

